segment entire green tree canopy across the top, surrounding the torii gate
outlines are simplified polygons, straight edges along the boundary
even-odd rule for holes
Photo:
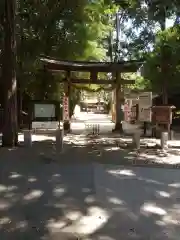
[[[114,16],[118,11],[121,32],[126,40],[121,42],[119,55],[137,59],[146,56],[145,78],[135,76],[135,88],[160,89],[162,74],[160,55],[163,44],[171,49],[169,79],[172,86],[179,78],[179,27],[165,29],[165,18],[180,13],[176,0],[73,0],[73,1],[17,1],[17,78],[22,91],[31,98],[61,99],[63,92],[59,82],[61,75],[39,71],[41,54],[62,60],[106,60],[110,31],[113,31]],[[3,4],[0,3],[0,50],[3,40]],[[131,24],[127,24],[129,21]],[[113,42],[116,49],[116,42]],[[154,47],[154,51],[152,51]],[[172,74],[172,75],[171,75]],[[82,73],[79,74],[82,76]],[[134,77],[134,76],[133,76]],[[174,85],[175,84],[175,85]],[[99,91],[97,86],[79,85],[89,91]],[[100,86],[101,88],[101,86]],[[72,90],[72,101],[78,92]],[[80,90],[79,90],[80,91]]]

